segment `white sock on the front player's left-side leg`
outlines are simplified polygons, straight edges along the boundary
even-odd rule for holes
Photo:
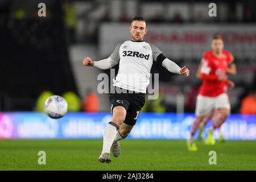
[[[108,125],[105,127],[101,154],[110,154],[110,147],[112,146],[115,136],[117,135],[118,128],[118,125],[113,122],[109,122]]]

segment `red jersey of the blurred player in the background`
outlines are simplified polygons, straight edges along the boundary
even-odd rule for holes
[[[227,91],[227,81],[219,81],[218,77],[227,75],[229,64],[233,61],[232,53],[223,50],[222,56],[217,57],[212,51],[204,52],[201,61],[201,85],[199,94],[207,97],[217,97]]]

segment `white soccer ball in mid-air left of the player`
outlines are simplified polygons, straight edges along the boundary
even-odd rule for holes
[[[68,111],[67,101],[61,96],[51,96],[44,103],[44,110],[48,117],[58,119]]]

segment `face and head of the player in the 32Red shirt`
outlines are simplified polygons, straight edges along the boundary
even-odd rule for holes
[[[129,27],[131,38],[135,41],[142,41],[147,34],[146,22],[134,21]]]

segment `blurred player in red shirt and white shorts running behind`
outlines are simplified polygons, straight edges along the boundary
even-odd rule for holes
[[[234,82],[228,79],[228,74],[236,75],[236,65],[233,61],[232,53],[224,50],[222,36],[214,35],[212,50],[204,52],[197,72],[203,84],[196,100],[196,119],[192,125],[191,136],[187,140],[189,151],[197,151],[193,135],[200,124],[205,126],[211,118],[213,119],[212,128],[207,130],[208,138],[205,144],[215,144],[213,130],[220,128],[230,114],[227,89],[234,87]]]

